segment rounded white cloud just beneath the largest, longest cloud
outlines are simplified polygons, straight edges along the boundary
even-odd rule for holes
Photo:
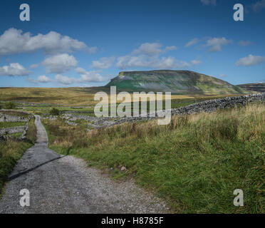
[[[48,73],[65,73],[78,65],[78,61],[67,53],[46,58],[42,63]]]

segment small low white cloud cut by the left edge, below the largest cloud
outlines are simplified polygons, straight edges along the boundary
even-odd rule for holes
[[[10,63],[9,66],[0,67],[0,76],[28,76],[31,73],[19,63]]]

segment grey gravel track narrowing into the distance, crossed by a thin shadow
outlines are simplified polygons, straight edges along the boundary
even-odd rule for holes
[[[117,183],[83,160],[48,149],[48,137],[36,115],[36,145],[14,168],[0,201],[0,213],[160,213],[165,203],[136,187]],[[30,206],[21,207],[20,190],[30,192]]]

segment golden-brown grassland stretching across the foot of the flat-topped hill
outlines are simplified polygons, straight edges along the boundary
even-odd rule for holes
[[[48,114],[52,108],[56,108],[61,112],[78,111],[82,113],[82,115],[94,116],[94,106],[96,103],[98,103],[98,101],[94,100],[94,95],[98,91],[105,91],[105,93],[110,93],[110,90],[104,87],[0,88],[0,108],[6,108],[6,104],[14,102],[16,106],[14,109],[16,109],[16,111],[21,110],[33,114]],[[171,107],[180,108],[203,100],[224,98],[227,96],[232,95],[172,95]],[[148,112],[149,99],[147,100]],[[163,96],[163,100],[165,101],[165,95]],[[118,104],[119,101],[117,102],[117,105]],[[131,104],[131,107],[133,113],[133,103]],[[141,107],[139,106],[139,108]],[[163,102],[163,109],[165,109],[165,102]]]

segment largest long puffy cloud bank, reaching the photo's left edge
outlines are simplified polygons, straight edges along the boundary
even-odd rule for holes
[[[0,56],[38,50],[43,50],[46,54],[69,53],[85,48],[88,48],[85,43],[55,31],[33,36],[16,28],[9,28],[0,36]],[[88,48],[88,51],[96,51],[96,48]]]

